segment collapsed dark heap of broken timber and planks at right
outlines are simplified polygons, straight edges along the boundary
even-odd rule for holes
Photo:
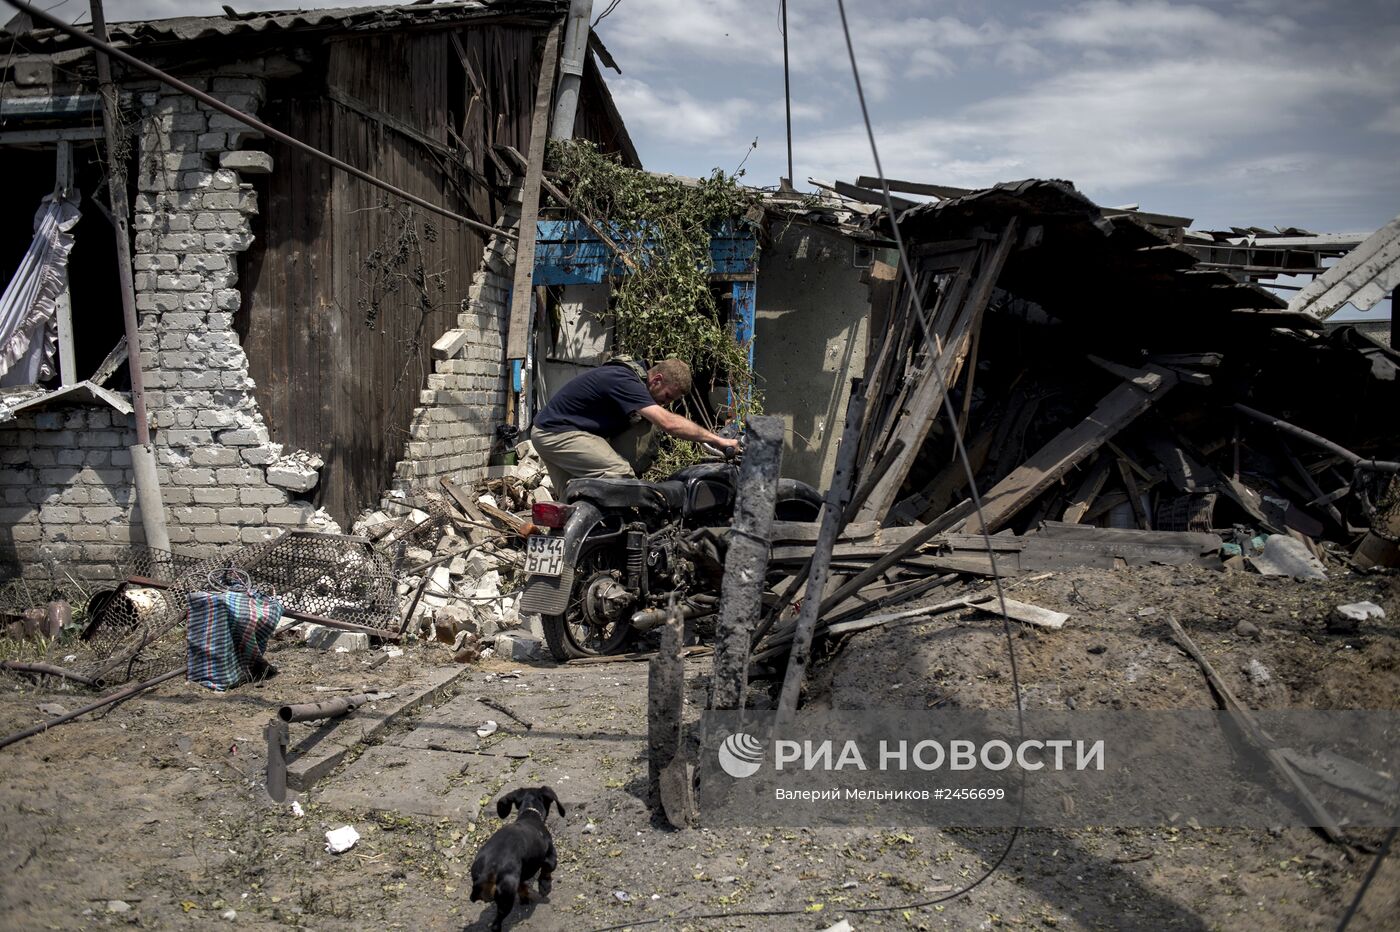
[[[819,567],[818,635],[994,571],[1219,565],[1260,535],[1397,563],[1400,354],[1323,336],[1060,182],[899,223],[910,266],[881,276],[897,284],[829,495],[843,530],[776,532],[792,575],[757,661],[792,642]]]

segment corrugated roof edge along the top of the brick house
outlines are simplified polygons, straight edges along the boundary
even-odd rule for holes
[[[108,24],[108,35],[115,45],[140,46],[276,32],[396,29],[507,14],[557,15],[567,8],[567,0],[461,0],[459,3],[384,7],[280,10],[239,13],[235,17],[175,17],[171,20],[111,22]],[[55,29],[35,29],[25,34],[25,45],[35,50],[57,49],[71,43],[71,39]]]

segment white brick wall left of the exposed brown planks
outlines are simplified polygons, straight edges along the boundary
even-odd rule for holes
[[[259,66],[242,70],[189,83],[255,112],[263,83],[248,74]],[[273,171],[272,160],[239,151],[255,134],[232,118],[164,87],[133,90],[141,125],[132,264],[171,544],[209,553],[283,528],[335,530],[297,498],[321,463],[270,442],[232,329],[237,256],[252,243],[258,213],[244,175]],[[134,442],[130,417],[105,407],[62,404],[0,424],[0,564],[115,575],[126,547],[144,543]]]

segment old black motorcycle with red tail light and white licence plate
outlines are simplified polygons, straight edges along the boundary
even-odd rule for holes
[[[666,619],[672,595],[701,627],[718,609],[738,486],[736,465],[699,463],[659,483],[575,479],[563,504],[535,505],[550,532],[526,540],[519,610],[542,616],[554,659],[619,652]],[[820,509],[815,488],[778,480],[776,521],[815,522]]]

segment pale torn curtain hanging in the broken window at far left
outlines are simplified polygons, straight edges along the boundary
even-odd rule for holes
[[[55,306],[64,288],[78,192],[45,196],[34,216],[34,241],[0,297],[0,385],[34,385],[53,376],[59,343]]]

